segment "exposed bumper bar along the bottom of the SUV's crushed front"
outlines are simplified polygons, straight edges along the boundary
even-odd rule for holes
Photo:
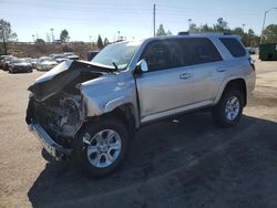
[[[64,148],[57,144],[39,124],[30,124],[29,129],[34,133],[43,148],[55,159],[61,159],[64,156],[71,155],[72,149]]]

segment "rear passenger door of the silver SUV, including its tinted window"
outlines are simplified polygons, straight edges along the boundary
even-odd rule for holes
[[[192,103],[197,106],[214,102],[223,83],[226,67],[223,59],[207,38],[191,38],[182,43],[187,48],[189,56]]]

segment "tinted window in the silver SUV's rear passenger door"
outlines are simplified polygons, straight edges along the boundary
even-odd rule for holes
[[[215,45],[208,39],[193,38],[185,40],[185,42],[188,48],[191,64],[209,63],[223,60]]]

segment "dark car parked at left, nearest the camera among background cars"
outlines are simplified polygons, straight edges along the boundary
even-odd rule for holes
[[[16,73],[16,72],[32,72],[33,67],[30,62],[28,62],[27,59],[13,59],[9,63],[9,72]]]

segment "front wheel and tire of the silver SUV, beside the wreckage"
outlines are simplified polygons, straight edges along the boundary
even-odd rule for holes
[[[109,135],[113,136],[109,139]],[[92,178],[101,178],[122,165],[130,147],[130,135],[120,119],[103,117],[95,123],[86,124],[72,146],[73,162],[82,173]]]

